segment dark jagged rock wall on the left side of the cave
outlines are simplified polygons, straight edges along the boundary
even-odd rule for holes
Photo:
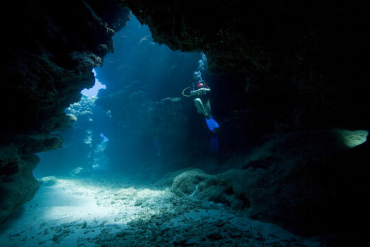
[[[0,222],[36,193],[35,153],[60,148],[52,133],[71,126],[64,109],[93,86],[92,69],[131,15],[114,0],[3,1],[1,10]]]

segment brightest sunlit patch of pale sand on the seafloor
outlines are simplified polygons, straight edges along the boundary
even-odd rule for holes
[[[44,220],[93,221],[108,220],[117,224],[127,224],[137,218],[141,207],[135,206],[136,200],[144,193],[159,196],[161,191],[122,188],[112,190],[108,186],[88,185],[78,179],[62,179],[47,177],[41,179],[42,183],[54,183],[47,187],[49,191],[41,193],[40,198],[45,205],[42,218]],[[51,189],[52,188],[52,189]],[[125,220],[121,214],[125,215]]]

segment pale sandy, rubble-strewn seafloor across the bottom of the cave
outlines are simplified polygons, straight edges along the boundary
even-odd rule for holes
[[[45,177],[5,222],[0,246],[321,246],[224,204],[95,174]]]

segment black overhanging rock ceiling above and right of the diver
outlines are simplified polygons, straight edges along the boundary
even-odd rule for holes
[[[156,42],[204,51],[210,71],[238,73],[245,93],[229,98],[258,93],[259,103],[280,106],[277,130],[368,127],[362,1],[122,2]]]

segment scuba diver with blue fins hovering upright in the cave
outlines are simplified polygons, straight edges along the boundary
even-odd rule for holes
[[[190,86],[186,89],[190,90],[190,95],[185,95],[184,89],[182,91],[182,95],[186,97],[194,97],[193,102],[195,107],[197,108],[198,113],[203,114],[206,117],[206,123],[210,131],[212,131],[211,141],[210,141],[210,151],[217,152],[219,151],[219,141],[217,137],[217,130],[219,130],[219,124],[215,121],[212,117],[211,106],[210,106],[210,99],[208,97],[210,87],[208,84],[201,79],[200,72],[194,73],[195,82],[190,84]]]

